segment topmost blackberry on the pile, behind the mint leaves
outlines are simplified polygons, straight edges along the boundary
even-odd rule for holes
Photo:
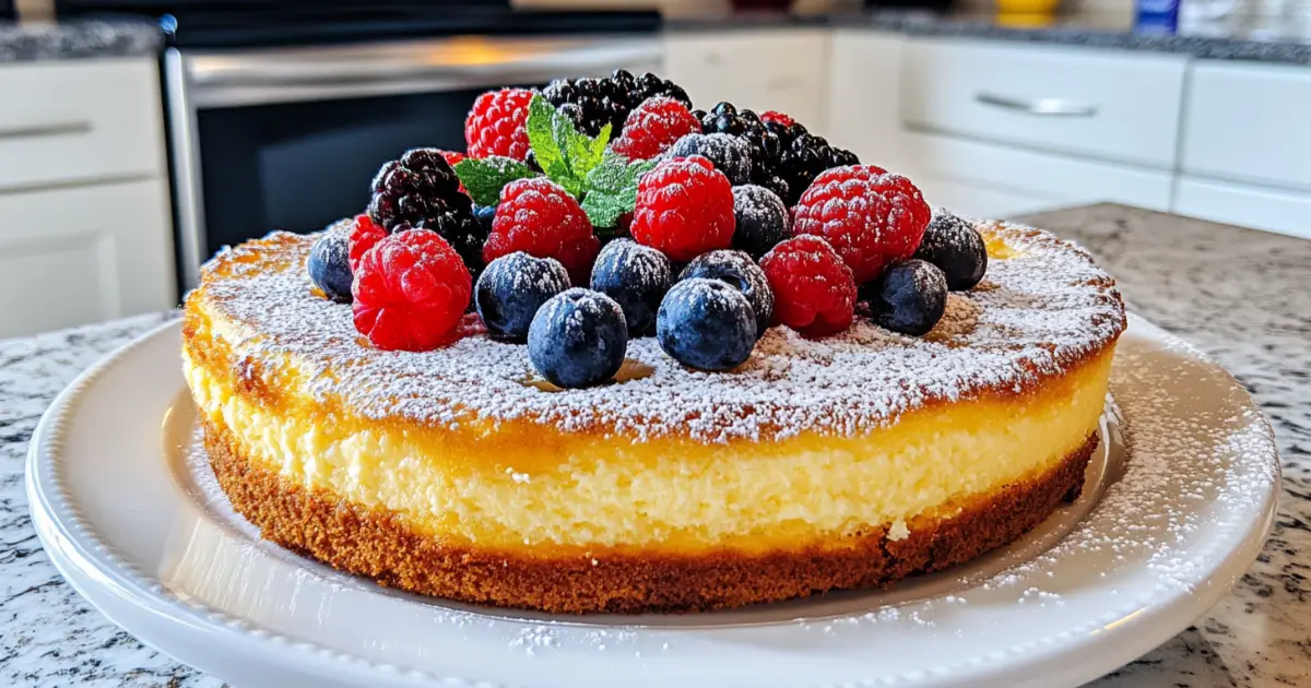
[[[665,96],[691,107],[692,101],[678,84],[650,72],[633,76],[615,69],[610,79],[557,79],[541,89],[547,102],[556,106],[589,136],[611,126],[611,139],[617,139],[628,113],[646,98]]]

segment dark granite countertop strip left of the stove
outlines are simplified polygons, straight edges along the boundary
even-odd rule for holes
[[[0,22],[0,63],[153,55],[163,45],[148,21]]]

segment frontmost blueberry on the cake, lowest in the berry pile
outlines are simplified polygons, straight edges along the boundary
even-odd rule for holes
[[[624,364],[627,349],[623,308],[604,294],[579,287],[552,296],[528,328],[528,359],[556,387],[610,380]]]

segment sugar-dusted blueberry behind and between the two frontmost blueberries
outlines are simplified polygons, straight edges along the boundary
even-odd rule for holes
[[[656,309],[673,282],[673,269],[663,253],[629,239],[606,244],[591,267],[591,288],[610,296],[624,309],[628,337],[642,337],[656,325]]]

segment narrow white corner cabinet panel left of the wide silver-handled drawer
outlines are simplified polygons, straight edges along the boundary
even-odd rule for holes
[[[844,29],[834,31],[825,136],[864,162],[912,169],[902,147],[901,80],[905,35]]]

